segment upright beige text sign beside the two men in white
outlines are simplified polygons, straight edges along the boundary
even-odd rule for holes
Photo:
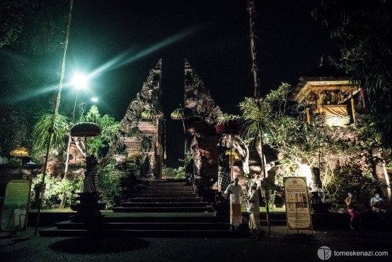
[[[306,177],[284,177],[283,185],[287,227],[289,229],[312,229]]]

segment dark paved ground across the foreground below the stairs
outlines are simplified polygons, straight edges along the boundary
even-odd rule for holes
[[[33,237],[33,227],[17,236],[0,233],[0,261],[322,261],[318,249],[328,246],[328,261],[392,261],[392,232],[330,230],[287,234],[272,227],[261,241],[220,238]],[[336,256],[336,251],[388,251],[389,256]],[[328,256],[328,250],[320,254]],[[360,255],[360,254],[355,254]],[[362,254],[363,255],[363,254]]]

